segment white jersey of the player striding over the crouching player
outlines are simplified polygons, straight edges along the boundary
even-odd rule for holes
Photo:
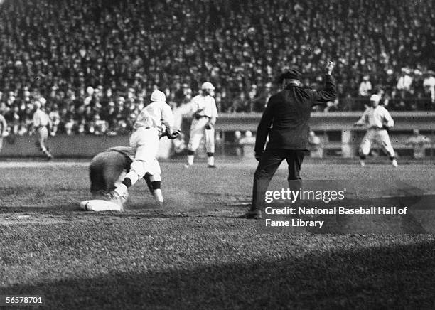
[[[151,102],[141,110],[134,123],[134,129],[141,127],[161,129],[162,124],[167,128],[171,128],[173,127],[173,122],[171,107],[166,102]]]

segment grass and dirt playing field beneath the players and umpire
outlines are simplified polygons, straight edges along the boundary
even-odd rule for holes
[[[50,309],[435,308],[433,199],[390,230],[353,218],[345,233],[269,232],[236,218],[255,162],[218,164],[163,162],[166,205],[141,182],[127,210],[90,213],[87,161],[0,162],[0,294],[43,294]],[[435,165],[308,160],[302,176],[371,180],[382,186],[361,205],[396,196],[412,208],[407,198],[434,191]],[[285,177],[283,165],[272,186]]]

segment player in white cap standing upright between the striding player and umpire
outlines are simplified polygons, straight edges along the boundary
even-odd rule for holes
[[[185,165],[189,168],[193,165],[195,151],[198,149],[203,133],[205,132],[205,149],[207,150],[208,167],[215,168],[215,122],[218,118],[218,109],[213,96],[215,87],[212,83],[205,82],[201,85],[200,95],[193,97],[190,102],[193,115],[192,124],[190,125],[190,140],[188,144],[188,163]]]

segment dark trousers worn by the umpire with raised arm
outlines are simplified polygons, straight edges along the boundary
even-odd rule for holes
[[[266,149],[254,173],[254,186],[252,188],[251,210],[259,210],[264,202],[264,194],[267,191],[270,180],[274,176],[281,162],[285,159],[289,164],[289,187],[293,190],[300,188],[299,171],[306,151],[294,149]]]

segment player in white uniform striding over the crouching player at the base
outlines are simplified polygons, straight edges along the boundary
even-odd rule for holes
[[[127,201],[128,188],[136,183],[146,173],[151,175],[150,181],[154,188],[154,198],[163,204],[161,193],[161,170],[156,159],[159,150],[159,137],[162,124],[170,139],[174,139],[180,132],[173,132],[173,114],[166,103],[166,96],[159,90],[151,94],[151,103],[141,110],[134,123],[134,132],[130,136],[130,146],[134,149],[134,161],[124,181],[110,193],[110,201],[123,205]]]

